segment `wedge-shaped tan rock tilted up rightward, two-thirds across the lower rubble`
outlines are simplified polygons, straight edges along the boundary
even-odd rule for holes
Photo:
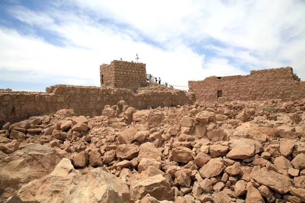
[[[211,178],[220,175],[225,170],[225,165],[221,157],[209,160],[203,165],[199,173],[204,178]]]

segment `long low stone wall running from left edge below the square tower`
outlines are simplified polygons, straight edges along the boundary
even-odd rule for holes
[[[77,115],[101,115],[105,105],[119,100],[136,109],[193,104],[194,94],[182,90],[143,91],[96,86],[54,85],[46,92],[0,91],[0,121],[44,115],[60,109],[74,109]]]

